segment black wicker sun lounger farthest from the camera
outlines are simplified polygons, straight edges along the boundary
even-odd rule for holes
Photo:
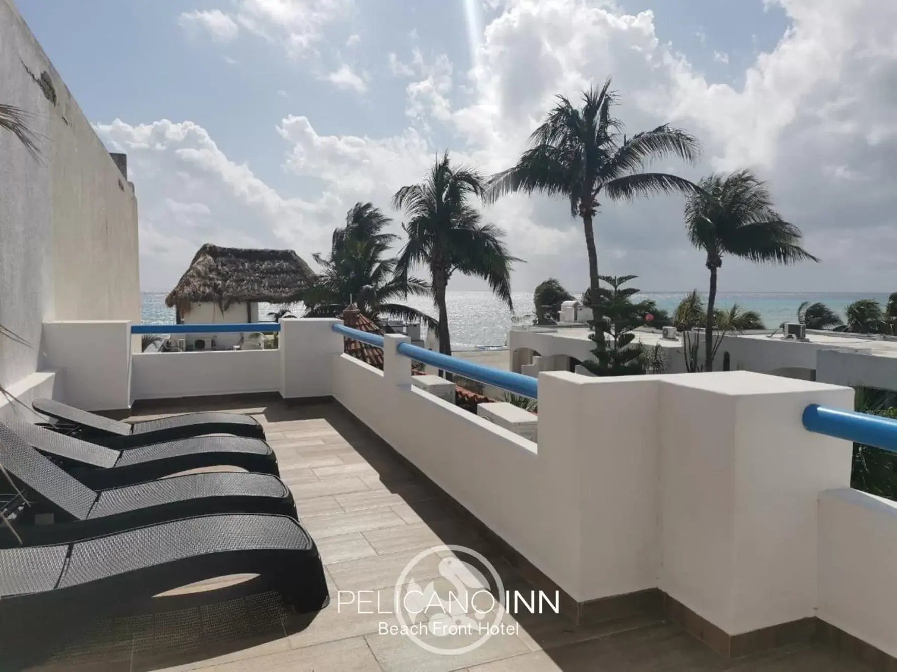
[[[239,413],[187,413],[144,422],[118,422],[96,413],[75,409],[59,401],[37,399],[31,408],[41,415],[74,425],[84,438],[94,443],[131,448],[138,445],[159,444],[163,441],[186,439],[205,434],[230,434],[264,439],[265,430],[256,418]]]

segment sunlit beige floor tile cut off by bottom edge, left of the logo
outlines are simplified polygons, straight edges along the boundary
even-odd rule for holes
[[[361,637],[215,667],[215,672],[380,672]]]

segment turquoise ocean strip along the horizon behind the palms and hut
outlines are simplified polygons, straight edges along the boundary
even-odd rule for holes
[[[687,292],[643,292],[640,296],[653,298],[659,308],[672,311]],[[720,307],[738,306],[745,310],[755,310],[762,315],[767,328],[774,328],[783,322],[797,320],[797,306],[802,301],[821,301],[844,316],[844,308],[860,298],[875,298],[882,306],[887,303],[888,294],[847,294],[847,293],[762,293],[762,292],[720,292],[717,303]],[[165,294],[143,292],[143,321],[146,324],[173,324],[174,309],[165,306]],[[515,292],[512,295],[515,313],[502,306],[488,291],[449,291],[448,324],[451,329],[453,349],[476,349],[501,347],[505,345],[508,330],[515,323],[528,323],[527,316],[533,312],[532,292]],[[425,297],[409,297],[409,306],[428,314],[435,314],[431,301]],[[261,304],[258,316],[270,319],[267,314],[280,306]],[[301,314],[301,305],[292,306],[296,314]]]

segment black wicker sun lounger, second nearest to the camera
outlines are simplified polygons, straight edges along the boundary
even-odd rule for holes
[[[28,500],[13,526],[26,546],[71,543],[141,525],[211,513],[273,513],[297,517],[290,489],[280,478],[269,474],[213,471],[97,492],[3,425],[0,425],[0,465]],[[34,520],[36,513],[53,513],[56,521],[48,525],[27,524]],[[0,545],[9,547],[17,542],[8,528],[0,528]]]

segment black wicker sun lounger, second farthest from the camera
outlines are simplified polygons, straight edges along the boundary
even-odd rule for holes
[[[124,486],[179,471],[221,465],[274,476],[280,473],[274,451],[260,439],[197,436],[118,451],[22,420],[11,421],[9,428],[26,444],[57,459],[91,487]]]

